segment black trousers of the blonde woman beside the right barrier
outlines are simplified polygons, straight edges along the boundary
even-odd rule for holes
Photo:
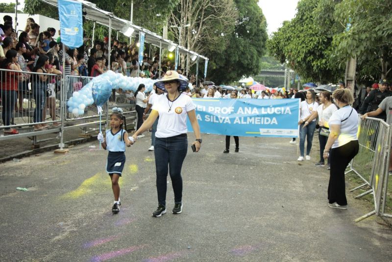
[[[329,172],[328,202],[330,204],[347,205],[344,171],[359,151],[358,140],[350,141],[347,144],[333,148],[330,152],[331,170]]]

